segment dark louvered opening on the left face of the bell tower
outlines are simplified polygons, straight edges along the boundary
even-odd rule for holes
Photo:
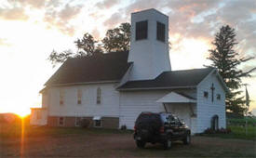
[[[143,31],[143,26],[141,26],[140,28],[140,24],[142,25],[142,23],[145,22],[145,31]],[[143,32],[141,32],[143,31]],[[142,34],[141,33],[145,33]],[[135,22],[135,41],[140,41],[140,40],[146,40],[148,39],[148,20],[141,20],[138,22]]]

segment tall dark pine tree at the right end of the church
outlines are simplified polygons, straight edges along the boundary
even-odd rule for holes
[[[230,90],[230,93],[226,94],[227,112],[244,114],[246,100],[241,96],[242,91],[239,90],[242,86],[241,78],[250,77],[250,72],[255,71],[256,68],[243,72],[237,67],[253,58],[239,58],[239,54],[235,51],[237,45],[235,29],[228,25],[222,26],[220,32],[215,34],[212,45],[214,48],[209,50],[208,58],[212,61],[212,64],[209,66],[217,68],[223,82]]]

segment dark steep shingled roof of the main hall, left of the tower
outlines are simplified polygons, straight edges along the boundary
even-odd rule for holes
[[[114,52],[90,57],[67,59],[45,86],[86,82],[118,81],[131,63],[128,52]]]

